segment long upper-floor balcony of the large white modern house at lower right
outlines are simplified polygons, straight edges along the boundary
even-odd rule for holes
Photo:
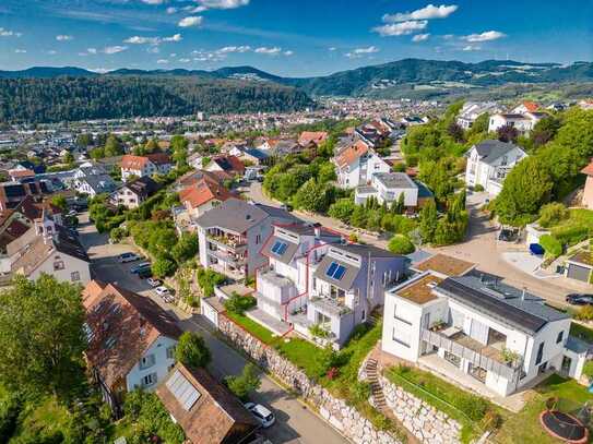
[[[449,327],[441,332],[422,331],[422,340],[443,349],[446,353],[469,360],[474,367],[494,372],[509,381],[515,381],[523,368],[523,359],[506,361],[502,352],[491,346],[484,346],[458,328]]]

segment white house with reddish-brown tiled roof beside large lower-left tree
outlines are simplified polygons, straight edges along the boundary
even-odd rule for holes
[[[152,299],[114,284],[90,281],[83,304],[88,369],[119,416],[124,393],[154,391],[167,379],[181,329]]]

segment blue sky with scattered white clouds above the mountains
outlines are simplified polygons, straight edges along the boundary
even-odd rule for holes
[[[593,60],[591,0],[0,0],[0,69]]]

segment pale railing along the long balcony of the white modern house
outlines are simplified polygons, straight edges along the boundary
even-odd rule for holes
[[[489,372],[494,372],[509,381],[515,381],[519,377],[523,367],[522,358],[513,362],[499,361],[497,359],[486,357],[479,351],[465,347],[440,333],[431,332],[426,328],[422,331],[422,339],[431,346],[442,348],[444,351],[455,355],[459,358],[467,359],[470,362],[472,362],[472,364]]]

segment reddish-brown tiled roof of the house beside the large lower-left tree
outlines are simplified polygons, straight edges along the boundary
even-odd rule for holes
[[[159,336],[177,339],[181,335],[175,319],[156,302],[114,284],[88,283],[83,304],[92,332],[86,359],[110,389]]]

